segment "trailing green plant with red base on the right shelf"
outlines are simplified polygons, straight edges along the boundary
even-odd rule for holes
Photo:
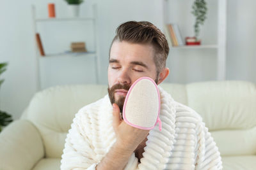
[[[200,32],[200,25],[204,24],[207,13],[207,4],[205,0],[195,0],[192,6],[191,13],[195,16],[194,32],[195,36],[186,38],[186,45],[200,45],[201,40],[198,39]]]

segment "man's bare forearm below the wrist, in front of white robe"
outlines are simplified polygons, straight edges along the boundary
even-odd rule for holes
[[[125,149],[122,146],[116,145],[116,143],[111,147],[106,157],[101,160],[97,165],[97,170],[106,169],[124,169],[129,158],[131,157],[134,150]]]

